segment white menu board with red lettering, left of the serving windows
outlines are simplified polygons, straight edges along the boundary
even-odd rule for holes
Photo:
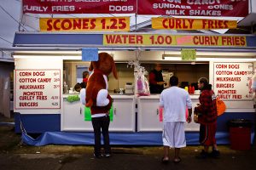
[[[61,70],[15,70],[15,109],[60,109]]]

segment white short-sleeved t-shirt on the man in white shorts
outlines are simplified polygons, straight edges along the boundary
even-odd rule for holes
[[[164,122],[186,122],[186,106],[192,108],[189,93],[173,86],[160,94],[160,107],[164,108]]]

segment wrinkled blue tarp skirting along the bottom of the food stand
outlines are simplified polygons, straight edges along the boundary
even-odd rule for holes
[[[30,145],[94,144],[93,133],[46,132],[37,139],[22,133],[22,141]],[[162,145],[162,133],[109,133],[110,144]],[[216,133],[217,144],[230,144],[229,133]],[[251,133],[253,144],[254,133]],[[198,145],[199,133],[186,133],[186,143]],[[102,141],[103,144],[103,141]]]

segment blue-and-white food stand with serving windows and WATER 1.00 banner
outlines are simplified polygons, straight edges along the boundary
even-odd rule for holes
[[[164,68],[174,65],[175,69],[169,71],[182,77],[182,82],[189,78],[189,82],[196,82],[200,77],[208,77],[214,92],[227,106],[224,115],[218,116],[218,144],[229,144],[226,123],[230,119],[255,120],[253,94],[250,93],[248,84],[256,66],[254,36],[17,32],[14,46],[15,132],[24,133],[22,129],[25,129],[26,133],[42,133],[40,141],[31,141],[35,145],[93,144],[91,122],[84,121],[84,105],[79,101],[67,101],[68,96],[76,94],[63,93],[64,85],[73,87],[73,83],[77,82],[68,75],[78,74],[74,69],[76,67],[70,69],[64,65],[67,61],[82,62],[81,48],[98,48],[100,52],[112,54],[120,69],[124,69],[129,60],[138,60],[145,67],[151,65],[148,68],[153,68],[154,63],[161,63]],[[196,49],[196,59],[182,60],[182,48]],[[84,63],[83,65],[89,65],[89,62]],[[136,75],[133,68],[129,71],[130,75]],[[112,82],[113,77],[110,77],[109,86],[124,88],[127,77],[119,72],[119,78],[119,82]],[[133,80],[132,83],[136,80],[135,77],[128,79]],[[162,144],[160,95],[117,94],[111,90],[113,89],[109,89],[113,98],[113,122],[109,127],[111,144]],[[193,109],[199,103],[198,98],[199,93],[191,94]],[[198,124],[186,123],[188,144],[199,144],[198,131]],[[254,130],[252,140],[253,138]]]

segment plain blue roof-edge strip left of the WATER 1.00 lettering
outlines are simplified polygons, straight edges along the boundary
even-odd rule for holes
[[[14,46],[29,44],[102,45],[102,34],[15,34]]]

